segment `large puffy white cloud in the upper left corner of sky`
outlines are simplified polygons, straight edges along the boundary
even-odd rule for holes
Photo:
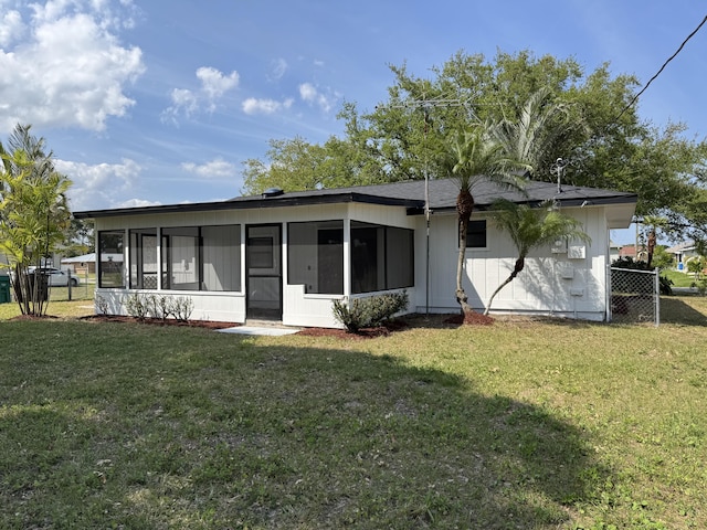
[[[18,123],[103,130],[124,116],[135,104],[125,86],[145,66],[139,47],[118,42],[120,14],[85,0],[31,9],[27,20],[17,11],[0,20],[0,130]]]

